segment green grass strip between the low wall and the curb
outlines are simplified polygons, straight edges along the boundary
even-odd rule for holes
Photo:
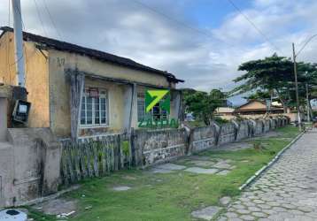
[[[214,160],[230,159],[230,164],[236,165],[236,168],[226,176],[186,171],[153,174],[147,170],[130,170],[84,181],[80,189],[66,194],[66,197],[79,202],[75,217],[68,220],[191,220],[192,210],[218,205],[220,197],[225,195],[238,195],[238,187],[290,142],[281,138],[294,138],[298,129],[287,126],[276,132],[279,133],[278,137],[256,140],[265,149],[208,150],[197,155]],[[131,189],[115,192],[112,187],[116,186],[128,186]],[[92,206],[91,210],[84,209],[89,206]],[[37,219],[36,213],[31,214],[35,220],[43,220],[41,217]],[[44,220],[54,219],[48,217]]]

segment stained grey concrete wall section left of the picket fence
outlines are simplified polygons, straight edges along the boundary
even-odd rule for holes
[[[10,128],[0,142],[0,207],[58,191],[60,144],[49,128]]]

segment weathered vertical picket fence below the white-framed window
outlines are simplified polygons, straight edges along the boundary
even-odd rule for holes
[[[108,135],[97,141],[63,141],[61,158],[62,183],[103,177],[111,171],[130,168],[132,164],[128,133]]]

